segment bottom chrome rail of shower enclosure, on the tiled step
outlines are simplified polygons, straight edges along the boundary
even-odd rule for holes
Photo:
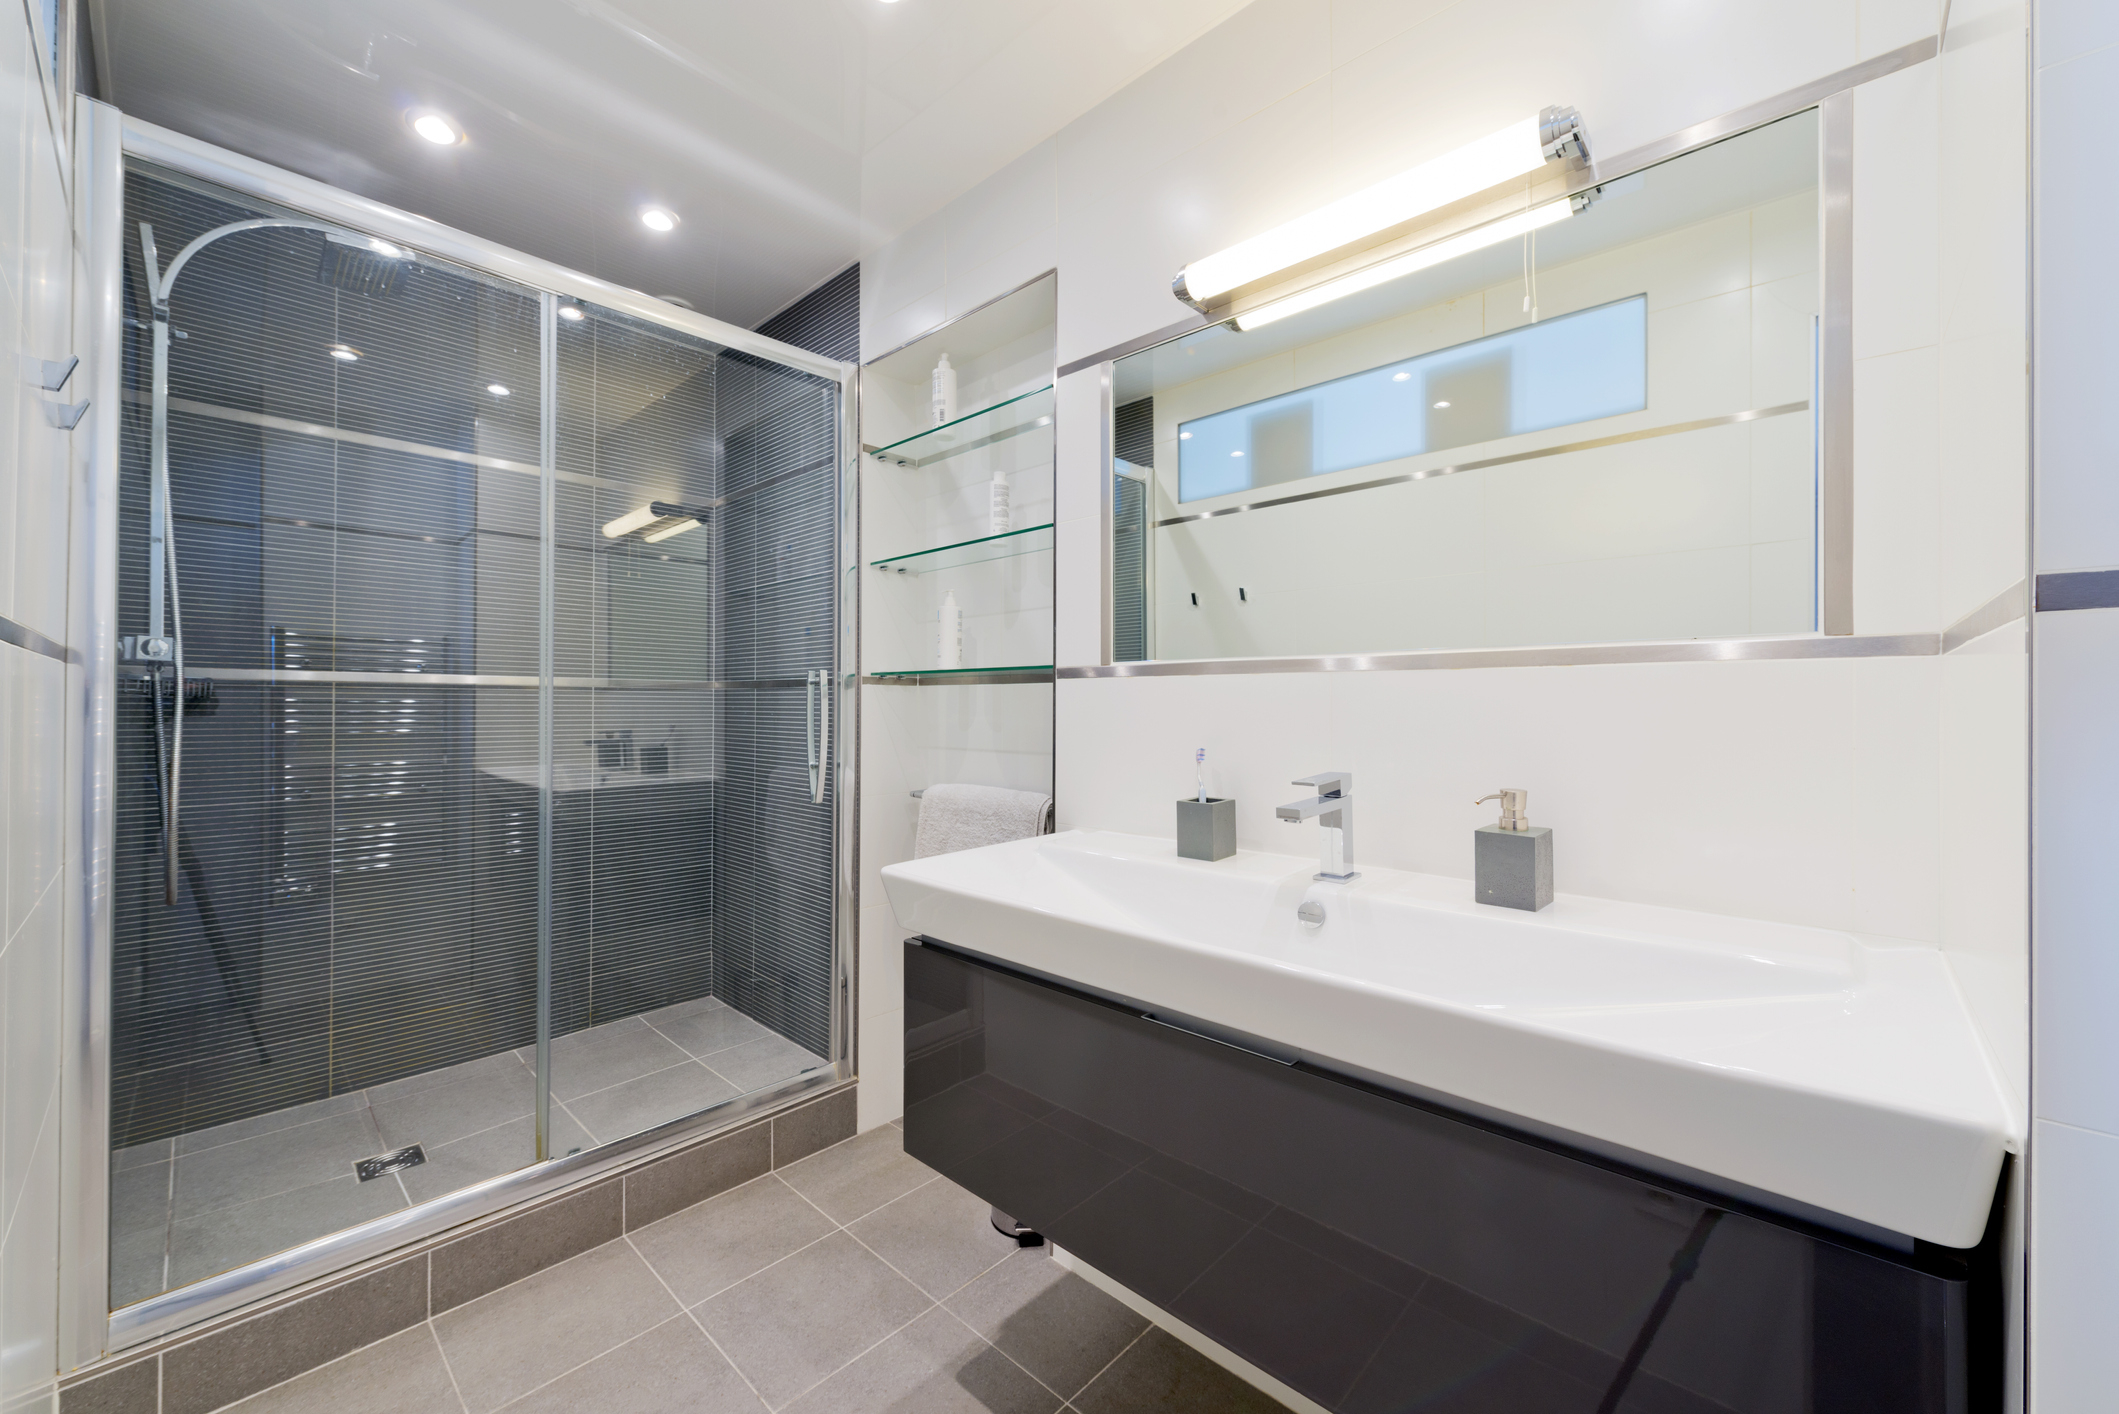
[[[712,1109],[659,1124],[653,1130],[640,1130],[638,1134],[615,1138],[595,1149],[570,1153],[547,1164],[532,1164],[530,1168],[462,1187],[443,1198],[360,1223],[358,1227],[345,1227],[314,1242],[290,1247],[284,1253],[208,1276],[189,1287],[163,1291],[133,1306],[121,1306],[110,1312],[110,1348],[138,1346],[320,1276],[331,1276],[356,1261],[386,1257],[400,1247],[432,1238],[489,1213],[542,1198],[564,1187],[585,1185],[621,1168],[634,1168],[680,1143],[706,1138],[716,1130],[735,1128],[771,1111],[790,1109],[797,1100],[814,1100],[850,1079],[852,1073],[845,1064],[797,1075],[769,1090],[723,1100]]]

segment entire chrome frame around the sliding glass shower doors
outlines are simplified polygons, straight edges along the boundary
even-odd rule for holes
[[[66,863],[68,909],[66,977],[61,1018],[61,1210],[59,1210],[59,1367],[72,1372],[104,1355],[239,1310],[265,1297],[305,1287],[354,1263],[381,1257],[409,1242],[449,1227],[487,1217],[519,1202],[568,1189],[610,1172],[629,1168],[714,1130],[754,1119],[797,1100],[812,1100],[854,1079],[854,994],[852,962],[858,909],[854,854],[858,814],[858,623],[845,585],[858,583],[858,379],[856,365],[822,358],[807,350],[780,343],[706,318],[691,310],[627,290],[593,276],[540,261],[494,242],[443,227],[424,216],[326,187],[305,176],[252,161],[193,138],[140,123],[108,104],[74,100],[74,326],[83,350],[83,373],[91,388],[91,411],[74,437],[72,466],[72,623],[70,638],[81,659],[70,666],[70,702],[76,731],[70,731],[68,774],[74,780],[78,810],[72,816],[72,839]],[[127,159],[214,182],[233,193],[256,197],[314,220],[261,220],[252,225],[297,225],[326,233],[348,233],[362,242],[381,240],[413,254],[430,254],[470,267],[540,295],[540,348],[545,416],[540,430],[542,515],[551,515],[551,479],[555,471],[555,329],[559,301],[585,301],[693,335],[725,350],[754,354],[769,363],[793,367],[831,379],[839,388],[839,447],[833,477],[837,536],[837,640],[829,670],[829,695],[818,723],[820,748],[831,750],[829,767],[837,789],[833,812],[833,1009],[829,1071],[818,1071],[776,1088],[740,1096],[708,1111],[674,1119],[653,1130],[602,1145],[587,1153],[532,1164],[511,1174],[477,1183],[432,1202],[392,1213],[384,1219],[348,1227],[273,1257],[222,1272],[218,1276],[165,1291],[121,1310],[110,1310],[108,1213],[110,1213],[110,943],[112,943],[112,842],[117,793],[112,782],[119,702],[119,560],[125,551],[117,538],[119,509],[119,441],[123,405],[123,316],[125,316],[125,163]],[[199,237],[170,269],[157,278],[157,295],[167,295],[178,269],[208,240],[233,233],[222,227]],[[157,314],[165,299],[157,299]],[[155,405],[165,405],[167,322],[157,318]],[[157,509],[167,505],[165,432],[155,418],[155,485]],[[167,522],[161,524],[163,543]],[[138,553],[138,551],[131,551]],[[549,536],[547,536],[549,555]],[[159,564],[150,583],[161,583]],[[551,613],[551,577],[545,577]],[[150,613],[153,634],[161,636],[159,615]],[[547,653],[549,653],[549,634]],[[178,636],[180,642],[180,636]],[[176,644],[170,647],[174,659]],[[540,736],[549,738],[551,664],[540,664],[538,691]],[[157,672],[161,672],[157,668]],[[182,670],[178,670],[182,672]],[[456,681],[456,678],[451,678]],[[824,687],[824,681],[818,683]],[[182,697],[182,676],[178,676]],[[837,710],[833,710],[837,708]],[[182,704],[178,704],[182,721]],[[829,746],[826,746],[829,744]],[[540,854],[549,863],[549,753],[540,780],[545,829]],[[818,763],[818,778],[822,776]],[[818,782],[820,786],[820,782]],[[174,827],[172,835],[174,839]],[[549,884],[549,867],[540,871]],[[538,897],[538,965],[549,975],[551,954],[549,888]],[[549,1026],[540,1026],[540,1039]],[[542,1060],[542,1058],[540,1058]],[[549,1073],[549,1071],[545,1071]],[[540,1088],[542,1090],[542,1088]],[[542,1149],[542,1107],[540,1107]]]

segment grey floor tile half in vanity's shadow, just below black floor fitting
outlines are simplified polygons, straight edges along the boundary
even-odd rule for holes
[[[1051,1247],[1017,1251],[949,1297],[949,1310],[1070,1399],[1148,1327],[1129,1306],[1053,1261]]]

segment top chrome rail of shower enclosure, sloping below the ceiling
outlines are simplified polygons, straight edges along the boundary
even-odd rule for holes
[[[511,250],[509,246],[481,240],[468,231],[456,231],[439,220],[415,216],[394,206],[384,206],[371,197],[328,187],[284,167],[273,167],[239,153],[218,148],[210,142],[186,138],[184,134],[167,127],[142,123],[136,117],[125,117],[123,121],[125,151],[131,157],[150,161],[159,167],[218,182],[231,191],[263,197],[278,206],[290,206],[311,216],[326,216],[354,227],[356,231],[381,235],[400,246],[411,246],[413,250],[426,250],[445,261],[456,261],[458,265],[483,269],[500,276],[502,280],[515,280],[517,284],[528,284],[536,290],[585,299],[606,310],[617,310],[619,314],[629,314],[634,318],[648,320],[651,324],[676,329],[678,333],[689,333],[723,348],[754,354],[759,358],[782,363],[805,373],[816,373],[833,382],[843,382],[854,371],[854,365],[850,363],[820,358],[809,350],[795,348],[793,343],[767,339],[761,333],[708,318],[706,314],[680,310],[667,301],[655,299],[653,295],[627,290],[621,284],[610,284],[608,280],[598,280],[595,276],[585,276],[576,269],[540,261],[534,254]]]

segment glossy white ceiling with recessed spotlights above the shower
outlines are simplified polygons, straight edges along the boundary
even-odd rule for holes
[[[1248,0],[91,0],[102,95],[756,324]],[[439,148],[407,112],[466,140]],[[670,235],[640,206],[680,216]]]

